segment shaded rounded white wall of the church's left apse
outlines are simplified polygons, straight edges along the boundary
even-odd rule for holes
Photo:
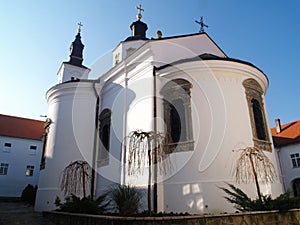
[[[47,92],[48,118],[52,123],[46,165],[40,172],[37,211],[55,209],[56,196],[64,199],[60,181],[66,166],[76,160],[92,165],[96,109],[93,85],[92,82],[64,83]]]

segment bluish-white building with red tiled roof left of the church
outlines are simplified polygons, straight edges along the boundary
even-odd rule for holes
[[[0,196],[20,197],[38,184],[44,122],[0,114]]]

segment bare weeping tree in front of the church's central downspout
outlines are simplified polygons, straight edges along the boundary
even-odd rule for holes
[[[151,215],[152,165],[156,166],[155,172],[159,170],[161,174],[171,168],[165,149],[166,139],[161,133],[136,130],[130,132],[125,140],[124,147],[128,154],[128,175],[143,174],[144,169],[148,168],[148,213]],[[156,173],[154,175],[157,176]],[[157,177],[154,177],[155,182],[156,179]]]

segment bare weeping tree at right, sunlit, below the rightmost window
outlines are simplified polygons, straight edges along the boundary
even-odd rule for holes
[[[254,181],[258,198],[262,201],[259,182],[273,183],[277,180],[274,165],[259,148],[246,147],[240,151],[241,155],[236,162],[235,180],[237,183]]]

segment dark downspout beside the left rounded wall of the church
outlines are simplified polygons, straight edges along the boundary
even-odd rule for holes
[[[95,180],[96,180],[96,153],[97,153],[97,132],[99,127],[99,104],[100,94],[96,90],[96,80],[93,82],[93,90],[96,97],[96,109],[95,109],[95,130],[94,130],[94,144],[93,144],[93,156],[92,156],[92,177],[91,177],[91,199],[94,199],[95,195]]]

